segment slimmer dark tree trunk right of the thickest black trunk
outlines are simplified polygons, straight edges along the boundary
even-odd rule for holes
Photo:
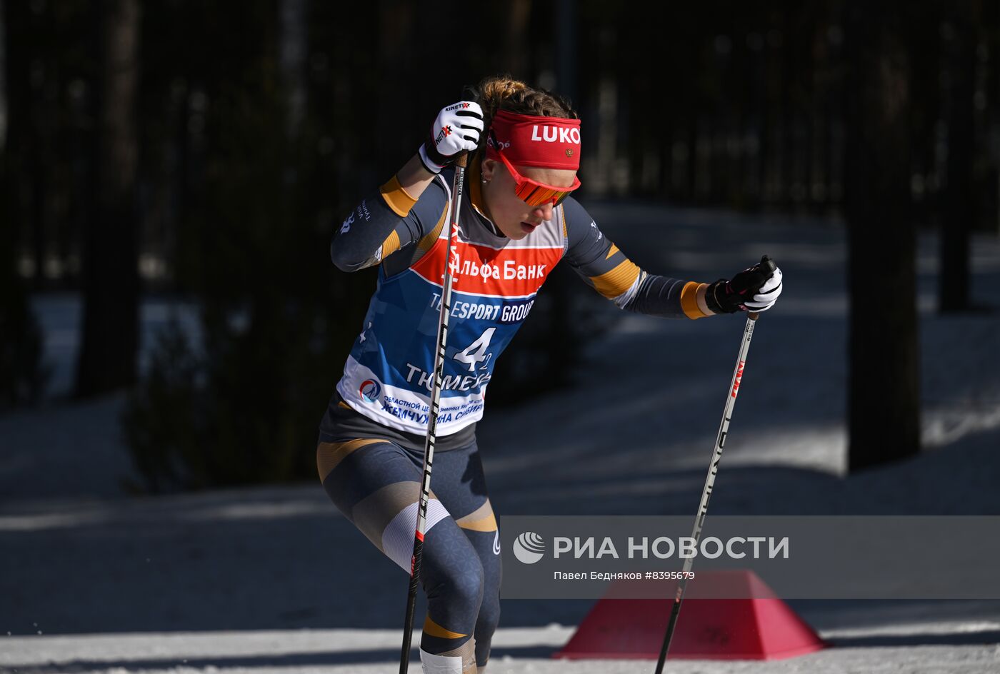
[[[975,219],[972,162],[976,32],[971,0],[951,3],[953,37],[948,49],[948,181],[941,215],[938,307],[942,313],[969,309],[969,234]]]

